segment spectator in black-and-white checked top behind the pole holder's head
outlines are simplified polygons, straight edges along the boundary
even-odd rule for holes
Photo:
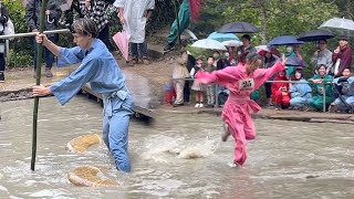
[[[80,0],[81,13],[86,19],[93,20],[98,28],[98,36],[101,41],[112,51],[112,44],[110,42],[110,24],[106,13],[107,3],[104,0]]]

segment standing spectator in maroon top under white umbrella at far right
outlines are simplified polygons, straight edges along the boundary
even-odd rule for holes
[[[351,69],[352,66],[352,49],[348,46],[347,41],[347,36],[341,36],[339,42],[340,45],[332,55],[335,77],[342,76],[344,69]]]

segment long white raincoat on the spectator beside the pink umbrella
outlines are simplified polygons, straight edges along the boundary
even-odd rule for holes
[[[146,11],[154,10],[155,0],[116,0],[113,6],[124,9],[125,29],[131,33],[129,42],[144,43]]]

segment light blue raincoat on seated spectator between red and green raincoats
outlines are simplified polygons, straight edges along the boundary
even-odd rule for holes
[[[312,88],[304,78],[301,78],[300,84],[293,83],[290,86],[290,106],[303,107],[308,104],[309,98],[312,96]]]

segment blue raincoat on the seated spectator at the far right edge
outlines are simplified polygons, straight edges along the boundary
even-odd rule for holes
[[[333,104],[337,105],[341,109],[346,109],[345,104],[342,101],[345,101],[347,105],[354,108],[354,76],[348,78],[346,77],[337,77],[333,81],[337,86],[342,94],[342,100],[337,97]]]

